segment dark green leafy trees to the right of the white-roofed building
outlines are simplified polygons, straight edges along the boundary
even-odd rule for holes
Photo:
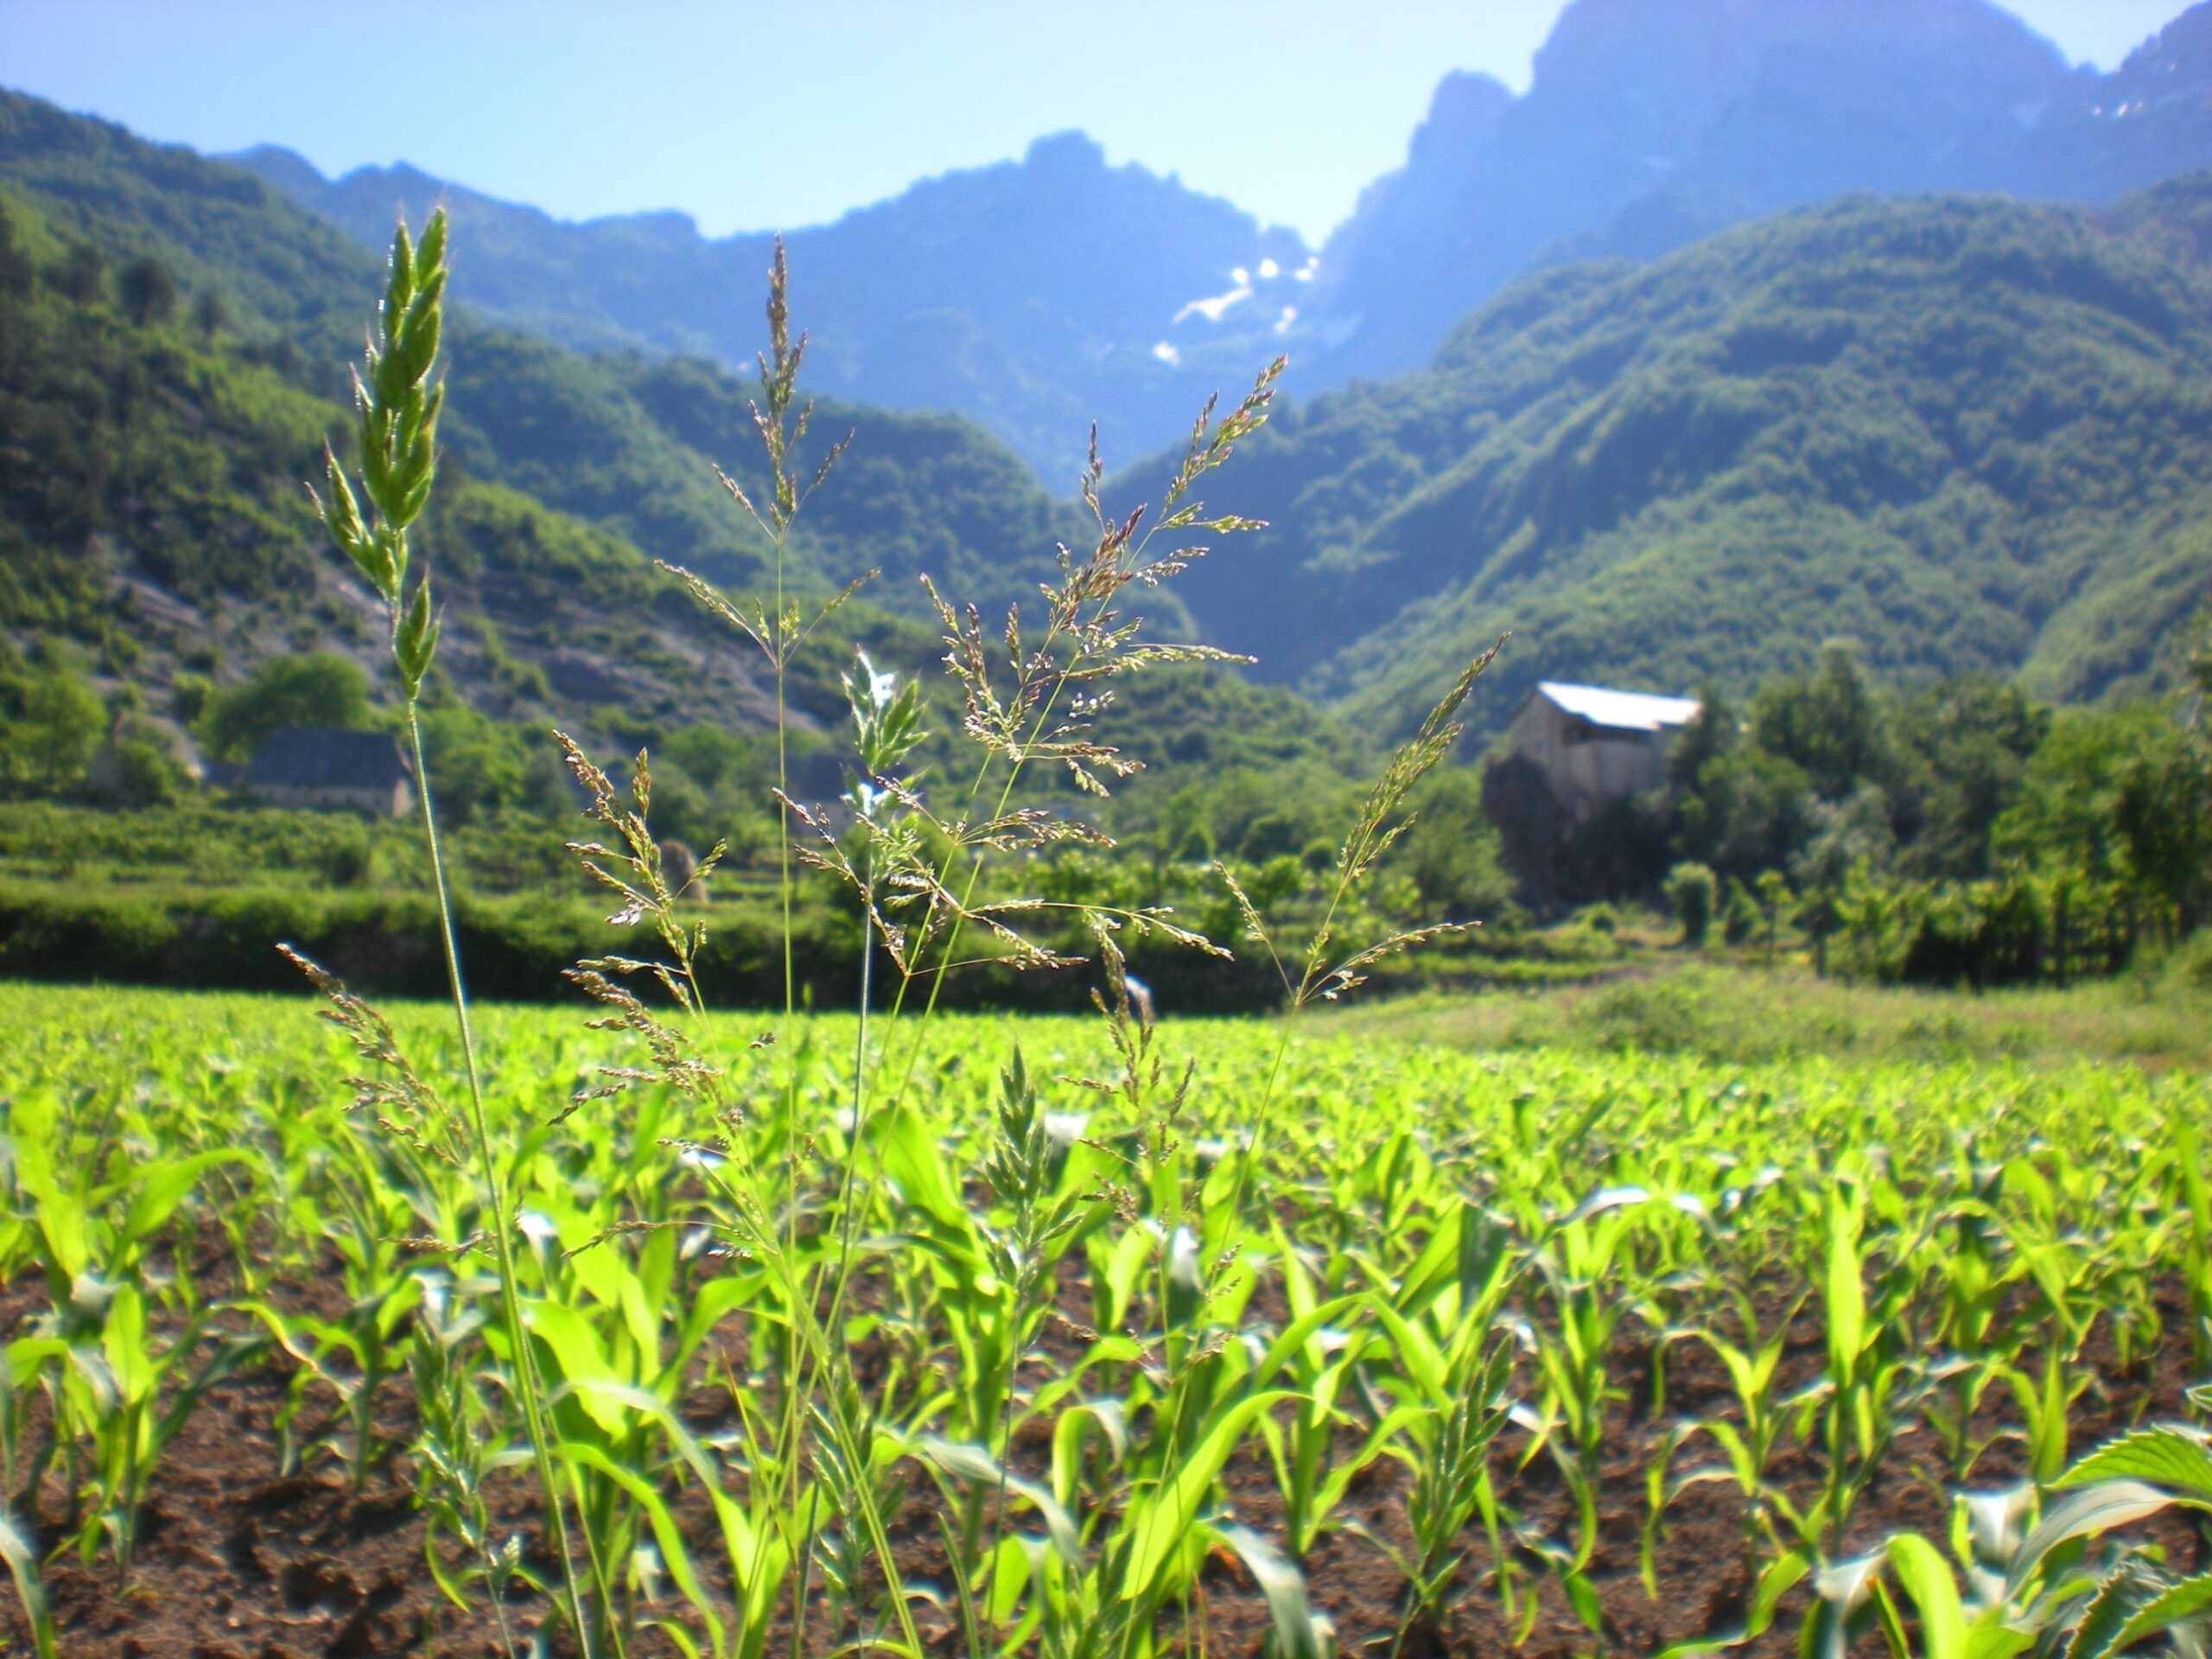
[[[1708,688],[1661,790],[1584,823],[1515,805],[1506,843],[1546,896],[1663,891],[1690,945],[1719,920],[1885,982],[2112,973],[2212,918],[2212,653],[2185,672],[2188,697],[2053,712],[1986,675],[1887,695],[1829,648],[1745,719]]]

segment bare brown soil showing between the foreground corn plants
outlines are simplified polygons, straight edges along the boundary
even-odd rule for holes
[[[212,1283],[215,1276],[210,1263],[204,1283]],[[338,1301],[334,1281],[299,1294],[325,1307]],[[2093,1336],[2084,1358],[2097,1380],[2077,1407],[2073,1442],[2077,1451],[2143,1418],[2181,1411],[2181,1391],[2192,1378],[2179,1343],[2183,1329],[2179,1287],[2163,1285],[2159,1301],[2174,1338],[2152,1360],[2137,1363],[2132,1374],[2121,1371],[2101,1327]],[[0,1296],[0,1329],[13,1329],[27,1312],[42,1305],[42,1285],[11,1287]],[[1267,1310],[1261,1305],[1254,1312]],[[1055,1336],[1051,1345],[1060,1347],[1064,1340],[1073,1338]],[[1644,1531],[1644,1469],[1652,1449],[1677,1418],[1728,1411],[1725,1371],[1701,1345],[1674,1345],[1666,1363],[1666,1411],[1652,1413],[1648,1340],[1641,1334],[1624,1336],[1613,1360],[1613,1376],[1635,1398],[1613,1409],[1606,1431],[1599,1544],[1588,1571],[1604,1608],[1604,1628],[1586,1630],[1555,1584],[1528,1564],[1533,1571],[1522,1573],[1520,1588],[1537,1595],[1537,1613],[1517,1652],[1531,1659],[1566,1659],[1582,1652],[1646,1655],[1668,1641],[1732,1630],[1743,1619],[1750,1584],[1741,1566],[1739,1500],[1732,1484],[1692,1486],[1668,1509],[1655,1555],[1657,1599],[1646,1595],[1637,1559]],[[1801,1314],[1790,1334],[1785,1378],[1801,1383],[1816,1374],[1818,1365],[1818,1318]],[[347,1495],[343,1475],[330,1462],[310,1462],[301,1473],[281,1471],[274,1416],[285,1400],[288,1383],[285,1365],[268,1363],[208,1391],[170,1442],[155,1475],[144,1509],[139,1555],[126,1584],[117,1586],[106,1555],[93,1568],[84,1568],[73,1551],[49,1562],[46,1593],[64,1655],[383,1659],[436,1652],[478,1659],[498,1652],[489,1610],[462,1613],[449,1606],[425,1571],[422,1517],[411,1504],[405,1458],[372,1478],[358,1500]],[[2008,1405],[1993,1391],[1984,1409],[1986,1431],[2000,1427],[2000,1411]],[[701,1394],[686,1416],[710,1418],[712,1409],[710,1398]],[[403,1378],[387,1387],[383,1418],[389,1433],[405,1436],[409,1402]],[[1042,1458],[1040,1438],[1026,1440],[1018,1455]],[[1356,1440],[1349,1436],[1345,1449],[1349,1451]],[[1548,1458],[1520,1464],[1526,1444],[1520,1431],[1509,1431],[1500,1442],[1498,1460],[1504,1471],[1500,1495],[1520,1511],[1528,1528],[1566,1535],[1573,1524],[1571,1500]],[[1712,1458],[1681,1455],[1677,1471],[1697,1462]],[[1854,1551],[1871,1546],[1898,1528],[1927,1531],[1940,1540],[1947,1482],[1933,1462],[1936,1447],[1927,1429],[1900,1436],[1865,1498],[1847,1546]],[[1807,1500],[1818,1489],[1820,1460],[1812,1451],[1787,1451],[1778,1478],[1792,1498]],[[2011,1440],[2000,1440],[1982,1455],[1971,1484],[2002,1486],[2017,1478],[2020,1449]],[[1274,1482],[1256,1442],[1230,1464],[1225,1489],[1245,1524],[1270,1531],[1279,1522]],[[1347,1493],[1340,1520],[1356,1520],[1383,1537],[1402,1542],[1405,1489],[1407,1480],[1398,1464],[1378,1462]],[[51,1484],[46,1495],[51,1500]],[[535,1517],[524,1484],[509,1480],[495,1486],[493,1506],[502,1524],[522,1528],[535,1548]],[[922,1478],[909,1482],[907,1500],[894,1522],[894,1542],[909,1582],[945,1588],[942,1610],[920,1601],[916,1617],[933,1650],[953,1652],[958,1628],[936,1544],[933,1506],[936,1493],[929,1482]],[[22,1509],[18,1498],[18,1515]],[[703,1522],[697,1511],[699,1504],[692,1502],[684,1520]],[[2161,1537],[2172,1548],[2172,1562],[2188,1566],[2199,1557],[2199,1540],[2179,1522]],[[703,1526],[699,1540],[699,1559],[710,1564],[712,1551],[706,1548]],[[60,1542],[55,1528],[46,1528],[44,1542],[49,1548]],[[1409,1659],[1515,1652],[1513,1630],[1489,1582],[1491,1557],[1480,1531],[1471,1531],[1464,1546],[1462,1584],[1473,1588],[1460,1595],[1447,1628],[1413,1632],[1407,1644]],[[2205,1562],[2197,1564],[2201,1568]],[[1327,1533],[1305,1568],[1316,1608],[1336,1624],[1340,1652],[1356,1655],[1378,1639],[1387,1644],[1398,1619],[1400,1579],[1371,1544],[1352,1533]],[[1807,1588],[1798,1586],[1785,1599],[1774,1630],[1743,1652],[1756,1659],[1783,1659],[1794,1652],[1807,1599]],[[18,1646],[11,1644],[24,1644],[27,1630],[4,1586],[0,1586],[0,1608],[4,1608],[0,1630],[9,1644],[0,1650],[15,1652]],[[513,1613],[520,1630],[538,1621],[538,1608],[529,1604],[518,1604]],[[1181,1610],[1168,1617],[1164,1646],[1186,1646],[1183,1617]],[[1203,1641],[1203,1650],[1221,1655],[1256,1655],[1267,1630],[1256,1586],[1228,1555],[1212,1559],[1201,1573],[1188,1619],[1188,1641]],[[818,1630],[821,1621],[812,1621],[812,1628]],[[774,1650],[781,1650],[781,1644]],[[672,1650],[646,1637],[633,1652],[648,1659]]]

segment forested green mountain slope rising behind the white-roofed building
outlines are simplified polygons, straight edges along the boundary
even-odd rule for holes
[[[1402,728],[1500,633],[1692,690],[1832,637],[1902,679],[2143,688],[2212,597],[2212,175],[2110,210],[1918,197],[1546,270],[1436,365],[1281,409],[1192,568],[1206,637]],[[1108,493],[1108,504],[1119,495]]]

